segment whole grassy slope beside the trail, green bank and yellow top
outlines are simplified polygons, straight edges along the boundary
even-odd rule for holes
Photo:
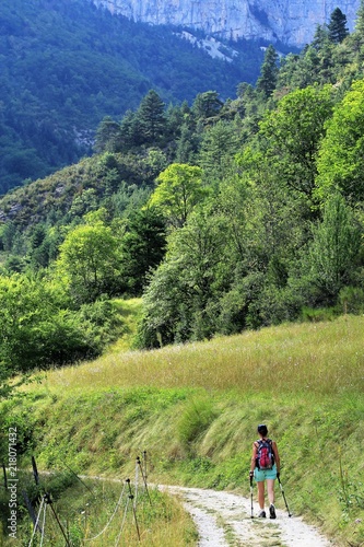
[[[148,451],[150,480],[248,493],[267,422],[294,514],[337,545],[364,542],[364,317],[283,325],[151,352],[113,351],[49,372],[8,404],[39,467],[125,477]],[[278,492],[278,505],[284,508]],[[161,544],[163,545],[163,544]]]

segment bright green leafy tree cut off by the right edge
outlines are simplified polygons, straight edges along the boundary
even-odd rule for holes
[[[325,201],[332,188],[352,203],[364,199],[364,82],[354,82],[327,123],[317,161],[316,195]]]

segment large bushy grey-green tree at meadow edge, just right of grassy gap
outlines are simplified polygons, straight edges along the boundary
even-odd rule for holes
[[[214,331],[214,294],[224,284],[226,222],[209,212],[191,214],[168,240],[166,259],[143,295],[139,344],[157,347],[203,339]]]

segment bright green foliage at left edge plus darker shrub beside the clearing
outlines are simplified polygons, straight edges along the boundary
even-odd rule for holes
[[[64,287],[54,281],[21,275],[1,277],[0,302],[3,380],[17,372],[95,357],[109,340],[110,305],[105,302],[71,310]],[[108,328],[103,331],[105,325]]]

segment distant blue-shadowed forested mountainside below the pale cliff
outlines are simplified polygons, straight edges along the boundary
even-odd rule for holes
[[[0,194],[90,154],[103,117],[151,88],[166,103],[210,89],[227,98],[262,60],[259,44],[234,43],[227,62],[86,0],[2,0],[0,30]]]

